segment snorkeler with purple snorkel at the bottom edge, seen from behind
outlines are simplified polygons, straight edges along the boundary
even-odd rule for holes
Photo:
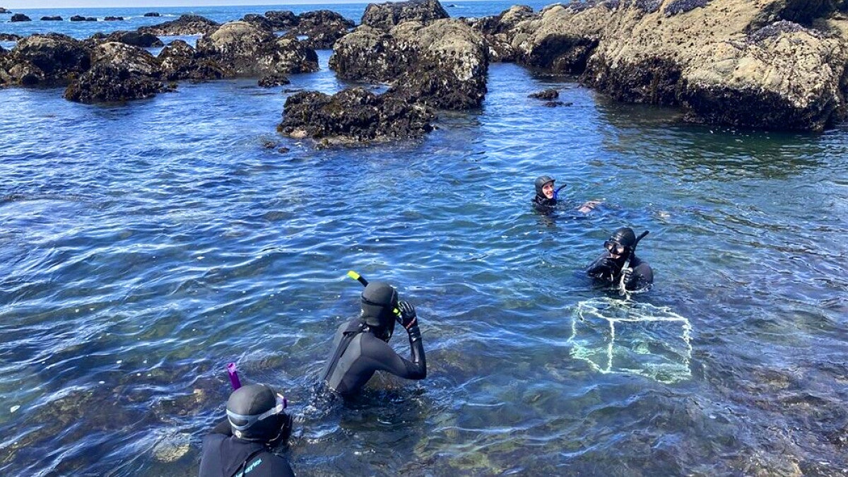
[[[288,461],[271,448],[292,434],[286,398],[265,384],[234,390],[226,401],[226,421],[204,437],[200,477],[293,477]]]

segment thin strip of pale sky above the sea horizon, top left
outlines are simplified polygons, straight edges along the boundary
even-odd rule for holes
[[[377,0],[383,3],[386,0]],[[373,3],[374,0],[371,0]],[[103,7],[198,7],[203,5],[273,5],[285,7],[286,5],[298,5],[304,3],[369,3],[369,0],[288,0],[285,3],[275,3],[273,0],[0,0],[0,7],[10,10],[15,8],[103,8]]]

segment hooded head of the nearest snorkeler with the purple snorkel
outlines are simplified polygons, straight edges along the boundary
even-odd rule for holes
[[[286,398],[271,386],[248,384],[232,391],[226,401],[226,418],[237,438],[276,446],[285,444],[292,433],[286,407]]]

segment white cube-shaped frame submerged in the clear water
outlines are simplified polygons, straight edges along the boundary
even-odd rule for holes
[[[672,384],[692,377],[692,325],[666,306],[598,298],[572,313],[572,357],[598,373],[638,374]]]

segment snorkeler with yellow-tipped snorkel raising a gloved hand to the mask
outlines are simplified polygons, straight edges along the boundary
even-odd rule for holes
[[[398,301],[398,292],[388,283],[372,282],[362,291],[362,312],[338,328],[332,354],[321,380],[347,395],[360,390],[377,371],[388,371],[405,379],[427,377],[427,360],[421,344],[415,306]],[[388,345],[395,317],[410,336],[412,361]]]

